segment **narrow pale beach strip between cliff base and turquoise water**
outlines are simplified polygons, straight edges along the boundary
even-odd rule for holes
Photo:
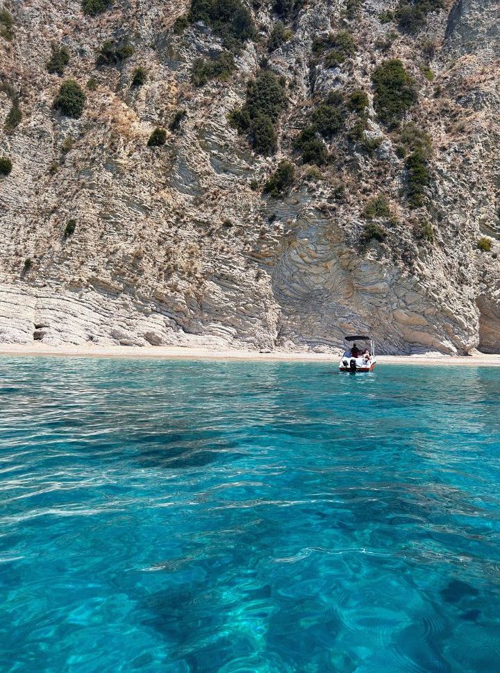
[[[120,359],[169,359],[169,360],[220,360],[220,361],[283,361],[283,362],[335,362],[340,355],[317,352],[273,351],[231,348],[199,348],[183,346],[48,346],[42,343],[0,343],[0,357],[106,357]],[[500,367],[499,355],[378,355],[379,364],[428,364],[447,366]]]

